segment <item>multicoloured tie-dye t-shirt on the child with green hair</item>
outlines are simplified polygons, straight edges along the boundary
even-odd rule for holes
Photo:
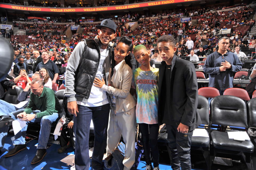
[[[158,73],[158,68],[154,68],[151,71],[143,71],[137,68],[133,71],[133,79],[137,92],[137,123],[158,123]]]

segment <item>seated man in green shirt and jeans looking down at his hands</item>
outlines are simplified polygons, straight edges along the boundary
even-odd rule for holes
[[[50,136],[51,125],[58,119],[61,106],[53,90],[43,86],[42,79],[33,79],[30,89],[32,93],[30,94],[29,104],[22,113],[17,115],[17,118],[27,123],[41,122],[37,145],[38,150],[31,161],[31,164],[36,164],[46,155],[46,146]],[[38,110],[33,111],[34,108]],[[15,135],[15,140],[13,141],[15,147],[10,150],[5,157],[13,156],[27,148],[25,144],[27,123],[26,126]]]

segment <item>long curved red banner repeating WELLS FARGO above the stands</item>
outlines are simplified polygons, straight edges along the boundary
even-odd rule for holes
[[[170,0],[170,1],[155,1],[148,3],[138,3],[123,6],[107,6],[107,7],[95,7],[95,8],[47,8],[47,7],[29,7],[29,6],[17,6],[5,3],[0,3],[0,8],[13,9],[13,10],[23,10],[23,11],[39,11],[39,12],[96,12],[96,11],[111,11],[111,10],[123,10],[132,9],[140,7],[149,7],[155,5],[165,5],[171,3],[179,2],[189,2],[189,1],[199,1],[199,0]]]

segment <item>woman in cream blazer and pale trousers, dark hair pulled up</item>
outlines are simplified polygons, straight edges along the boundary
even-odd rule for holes
[[[121,38],[114,49],[109,79],[111,85],[95,78],[94,85],[109,93],[111,110],[107,128],[107,154],[112,153],[120,141],[125,142],[124,170],[129,170],[135,161],[135,106],[136,102],[130,94],[133,77],[131,60],[132,40],[127,36]]]

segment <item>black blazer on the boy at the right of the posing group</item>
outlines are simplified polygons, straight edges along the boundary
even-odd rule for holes
[[[166,94],[165,84],[165,61],[159,66],[158,85],[158,122],[162,123],[165,113],[165,95],[170,97],[168,121],[189,126],[189,130],[197,128],[202,122],[197,112],[198,87],[194,64],[190,61],[173,56],[170,80],[170,94]]]

